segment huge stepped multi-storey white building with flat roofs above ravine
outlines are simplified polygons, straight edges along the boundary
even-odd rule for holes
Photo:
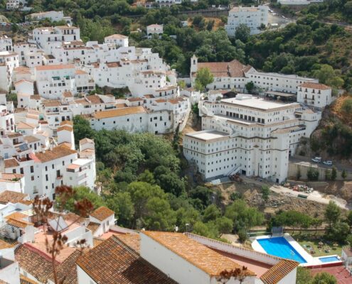
[[[289,155],[309,137],[320,112],[238,94],[199,104],[202,129],[183,138],[183,153],[204,178],[240,172],[274,182],[287,178]]]

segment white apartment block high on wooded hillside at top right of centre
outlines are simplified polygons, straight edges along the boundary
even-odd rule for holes
[[[228,13],[228,24],[225,30],[229,37],[234,37],[236,28],[244,24],[250,28],[250,33],[260,33],[260,26],[267,26],[268,6],[234,7]]]

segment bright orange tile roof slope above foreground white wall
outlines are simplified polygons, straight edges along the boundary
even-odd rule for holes
[[[154,241],[181,256],[181,258],[208,273],[208,275],[217,276],[225,269],[230,270],[241,267],[238,263],[198,243],[198,241],[188,238],[184,234],[159,231],[144,231],[142,234],[146,234],[146,236],[154,239]],[[252,271],[248,272],[255,275]]]

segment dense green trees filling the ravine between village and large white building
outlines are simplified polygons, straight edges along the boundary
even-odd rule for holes
[[[84,137],[95,140],[98,180],[102,196],[85,187],[75,189],[75,198],[85,196],[95,207],[105,204],[114,210],[117,224],[134,229],[193,231],[219,239],[264,222],[263,214],[235,200],[224,209],[220,193],[198,185],[181,163],[178,145],[161,136],[126,131],[94,131],[89,123],[74,119],[76,143]],[[73,209],[74,200],[66,209]],[[241,233],[240,233],[241,232]]]

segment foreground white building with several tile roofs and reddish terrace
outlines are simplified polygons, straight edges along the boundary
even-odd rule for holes
[[[223,271],[242,266],[247,268],[243,284],[292,284],[299,265],[203,236],[161,231],[114,235],[76,263],[78,284],[108,283],[111,275],[122,282],[132,269],[134,283],[215,284]],[[105,273],[99,273],[97,266]],[[231,277],[226,283],[240,280]]]

